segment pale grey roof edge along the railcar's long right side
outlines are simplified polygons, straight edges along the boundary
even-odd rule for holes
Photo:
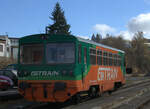
[[[100,43],[96,43],[96,42],[91,41],[91,40],[83,39],[83,38],[80,38],[80,37],[77,37],[77,39],[79,41],[82,41],[82,42],[85,42],[85,43],[90,43],[90,44],[94,44],[94,45],[101,46],[101,47],[104,47],[104,48],[108,48],[108,49],[111,49],[111,50],[115,50],[115,51],[118,51],[118,52],[121,52],[121,53],[125,53],[122,50],[119,50],[119,49],[116,49],[116,48],[112,48],[112,47],[109,47],[107,45],[103,45],[103,44],[100,44]]]

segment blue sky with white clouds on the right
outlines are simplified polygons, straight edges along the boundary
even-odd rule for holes
[[[23,37],[45,32],[59,2],[70,31],[91,38],[123,35],[131,40],[137,31],[150,39],[150,0],[0,0],[0,35]]]

